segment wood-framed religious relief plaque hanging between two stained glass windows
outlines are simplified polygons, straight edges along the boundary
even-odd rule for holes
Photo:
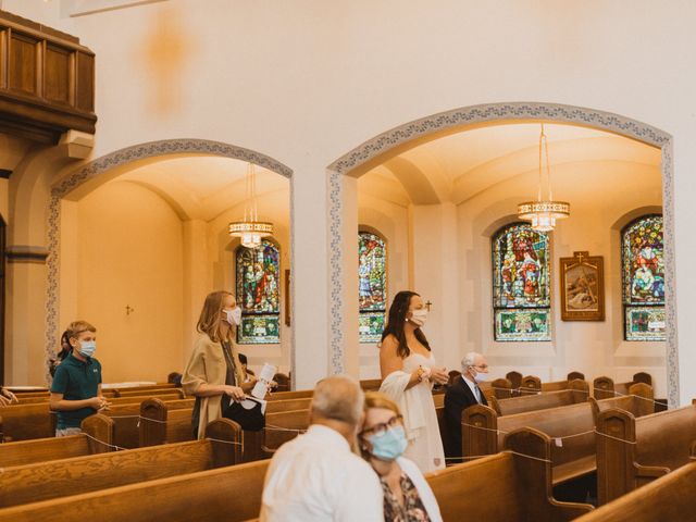
[[[561,258],[561,320],[605,320],[604,258],[573,252]]]

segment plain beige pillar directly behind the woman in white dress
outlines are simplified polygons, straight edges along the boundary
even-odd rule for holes
[[[462,357],[459,273],[463,270],[458,251],[457,207],[414,204],[410,207],[412,231],[413,288],[431,303],[423,332],[438,365],[459,370]]]

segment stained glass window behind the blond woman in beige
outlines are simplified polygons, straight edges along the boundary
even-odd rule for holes
[[[257,248],[236,250],[237,303],[241,324],[237,328],[240,345],[281,341],[281,256],[269,240]]]

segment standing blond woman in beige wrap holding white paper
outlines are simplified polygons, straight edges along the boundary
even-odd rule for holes
[[[200,312],[199,336],[182,377],[186,395],[196,397],[191,428],[198,438],[203,437],[209,422],[222,417],[223,398],[241,400],[256,384],[256,378],[244,382],[233,340],[240,316],[241,310],[228,291],[209,294]]]

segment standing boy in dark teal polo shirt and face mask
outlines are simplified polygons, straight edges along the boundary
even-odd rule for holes
[[[92,357],[96,333],[97,328],[86,321],[67,326],[73,351],[55,369],[51,385],[51,410],[58,412],[57,437],[80,433],[85,418],[109,407],[101,396],[101,364]]]

